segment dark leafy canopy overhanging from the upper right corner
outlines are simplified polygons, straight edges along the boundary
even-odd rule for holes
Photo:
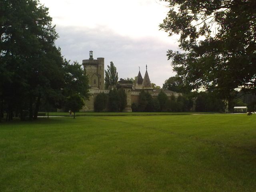
[[[160,28],[180,35],[183,51],[167,55],[184,82],[223,97],[235,88],[255,91],[255,0],[164,1],[170,11]]]

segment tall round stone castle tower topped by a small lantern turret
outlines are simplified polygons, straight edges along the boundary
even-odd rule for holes
[[[83,60],[82,64],[89,78],[90,88],[104,90],[104,58],[93,59],[90,51],[90,58]]]

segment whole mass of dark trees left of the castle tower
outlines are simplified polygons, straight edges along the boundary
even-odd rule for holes
[[[45,110],[81,108],[88,78],[55,46],[48,8],[37,0],[1,1],[0,13],[0,117],[36,119],[41,104]]]

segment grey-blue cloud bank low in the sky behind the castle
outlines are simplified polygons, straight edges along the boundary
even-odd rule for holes
[[[94,51],[94,58],[105,58],[105,69],[110,61],[118,71],[119,78],[134,78],[140,66],[142,76],[148,66],[151,82],[162,86],[164,80],[174,76],[170,61],[167,60],[168,49],[177,50],[171,41],[145,36],[131,38],[121,36],[106,26],[95,28],[57,26],[60,38],[56,46],[60,46],[62,55],[68,60],[78,61],[89,58],[89,51]]]

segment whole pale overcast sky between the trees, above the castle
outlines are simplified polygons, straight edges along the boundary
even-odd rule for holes
[[[114,63],[119,78],[142,76],[148,65],[151,82],[162,86],[174,76],[168,49],[178,50],[177,37],[159,30],[168,8],[159,0],[40,0],[49,8],[62,55],[82,64],[83,59],[105,58]]]

